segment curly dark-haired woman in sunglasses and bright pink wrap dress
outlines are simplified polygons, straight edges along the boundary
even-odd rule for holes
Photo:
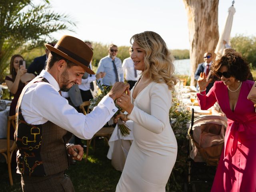
[[[256,95],[247,98],[253,81],[246,80],[249,65],[237,53],[225,54],[212,64],[212,74],[221,81],[208,94],[205,74],[198,79],[198,101],[207,110],[217,101],[228,118],[224,150],[214,178],[212,192],[256,191]]]

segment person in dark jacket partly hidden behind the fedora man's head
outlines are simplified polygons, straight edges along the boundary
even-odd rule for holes
[[[55,42],[48,43],[51,46],[55,46]],[[28,66],[28,73],[34,73],[36,75],[39,75],[40,72],[45,69],[48,55],[50,51],[45,49],[45,55],[34,58],[34,61]]]

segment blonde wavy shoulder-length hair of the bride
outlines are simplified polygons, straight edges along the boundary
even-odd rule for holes
[[[130,43],[136,42],[145,51],[144,56],[145,70],[142,76],[148,76],[157,83],[166,83],[170,90],[178,79],[174,74],[174,57],[168,50],[162,37],[152,31],[145,31],[131,37]]]

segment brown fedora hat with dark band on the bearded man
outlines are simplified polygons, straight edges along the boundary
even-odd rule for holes
[[[92,60],[93,52],[91,48],[82,40],[64,35],[54,47],[49,44],[44,45],[49,51],[52,51],[75,64],[78,64],[89,74],[95,74],[90,68],[88,68]]]

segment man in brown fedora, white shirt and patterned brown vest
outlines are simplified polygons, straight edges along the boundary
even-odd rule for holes
[[[16,108],[15,140],[17,164],[24,192],[74,191],[64,171],[68,155],[81,160],[83,148],[70,145],[73,133],[90,139],[118,110],[114,100],[129,88],[118,82],[94,110],[84,116],[70,106],[60,91],[80,84],[83,74],[94,74],[88,65],[92,50],[83,41],[63,36],[50,51],[46,70],[29,82],[20,94]]]

